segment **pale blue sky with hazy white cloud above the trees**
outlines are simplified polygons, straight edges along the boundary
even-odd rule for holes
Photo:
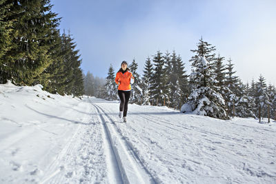
[[[142,74],[148,56],[175,50],[188,73],[191,49],[202,36],[217,53],[231,57],[242,81],[262,74],[276,85],[276,1],[139,1],[54,0],[61,30],[70,29],[83,63],[81,68],[106,77],[110,63],[138,63]],[[225,62],[226,63],[226,62]]]

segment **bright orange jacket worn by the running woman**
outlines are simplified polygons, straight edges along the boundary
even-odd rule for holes
[[[117,72],[115,82],[118,84],[120,81],[120,85],[118,87],[118,90],[131,90],[130,86],[130,77],[132,76],[132,73],[129,71],[124,72]]]

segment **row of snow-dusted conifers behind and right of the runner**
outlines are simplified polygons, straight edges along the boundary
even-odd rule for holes
[[[190,50],[194,53],[189,60],[190,75],[186,74],[184,62],[175,52],[157,51],[152,58],[148,57],[142,76],[137,73],[138,65],[133,60],[129,65],[135,76],[130,102],[166,105],[181,109],[181,112],[196,112],[219,119],[257,117],[259,109],[263,117],[275,116],[275,86],[267,85],[262,75],[258,81],[242,83],[235,76],[232,60],[229,58],[224,64],[225,58],[215,54],[215,50],[215,46],[200,39],[197,48]],[[97,97],[118,99],[115,74],[110,65],[106,85],[99,89]]]

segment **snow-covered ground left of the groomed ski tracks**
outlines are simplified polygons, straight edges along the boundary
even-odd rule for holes
[[[0,183],[108,183],[90,103],[8,84],[0,107]]]

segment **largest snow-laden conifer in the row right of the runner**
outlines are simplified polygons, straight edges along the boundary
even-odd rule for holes
[[[202,41],[202,39],[199,41],[197,50],[191,50],[196,53],[190,59],[190,62],[193,62],[192,73],[190,74],[193,90],[188,97],[187,103],[182,105],[181,112],[193,112],[219,119],[229,119],[226,114],[224,99],[213,88],[215,72],[212,66],[215,54],[212,54],[212,52],[215,50],[215,47]],[[196,58],[197,60],[195,60]]]

